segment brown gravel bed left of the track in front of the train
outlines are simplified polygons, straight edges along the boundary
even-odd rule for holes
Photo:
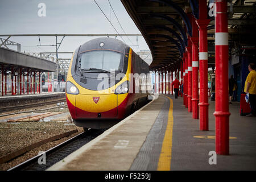
[[[77,129],[79,133],[82,133],[83,131],[82,127],[65,124],[67,124],[67,122],[20,122],[15,125],[13,123],[0,123],[0,156],[11,154],[20,148],[67,131],[75,129]],[[14,167],[19,163],[38,155],[39,151],[46,151],[79,133],[43,144],[10,162],[0,164],[0,170],[7,170]]]

